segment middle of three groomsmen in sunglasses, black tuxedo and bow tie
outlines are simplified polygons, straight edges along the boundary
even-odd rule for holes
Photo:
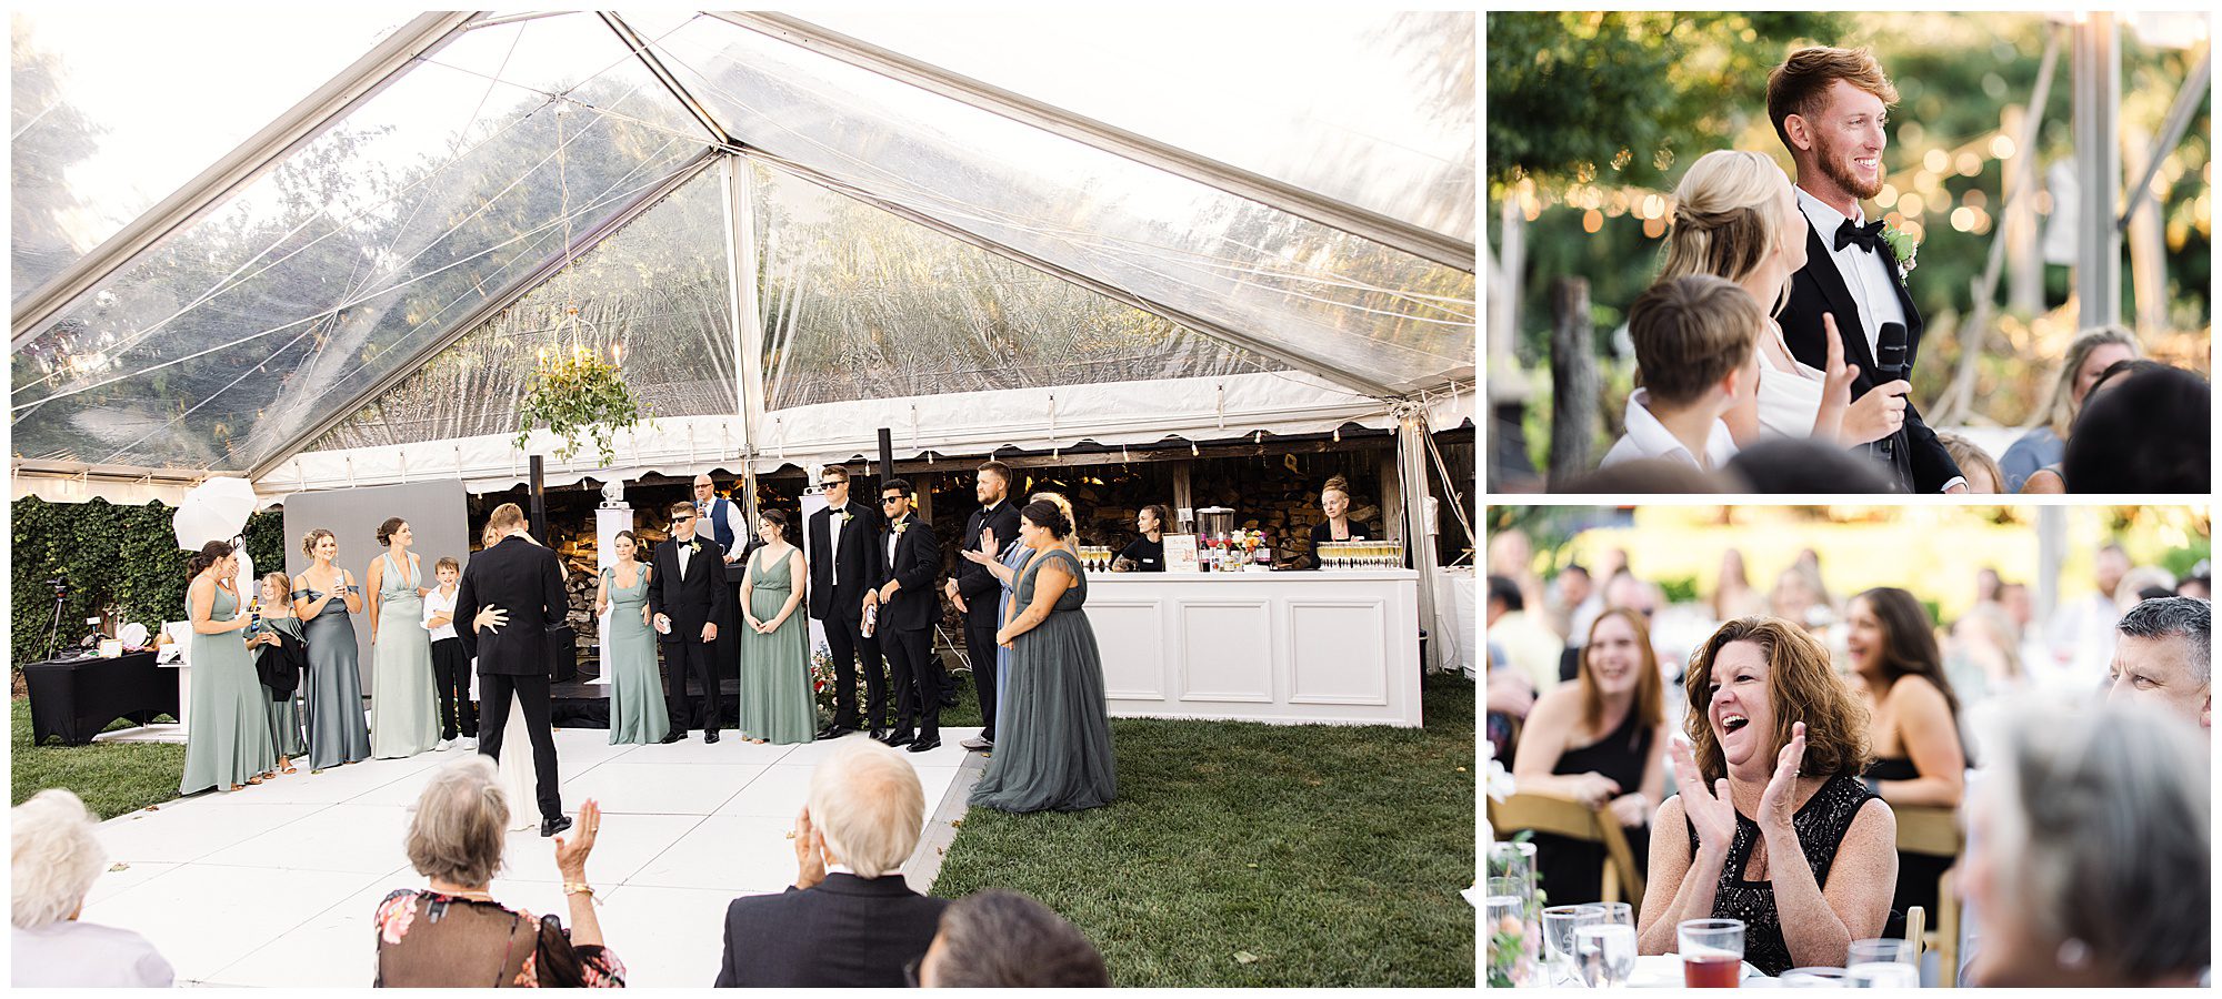
[[[849,500],[849,468],[829,464],[818,475],[827,508],[811,513],[809,566],[811,617],[824,624],[833,657],[833,722],[820,739],[869,730],[887,737],[887,670],[880,666],[878,633],[864,635],[864,597],[880,588],[880,515]],[[864,722],[855,713],[855,666],[864,659]]]

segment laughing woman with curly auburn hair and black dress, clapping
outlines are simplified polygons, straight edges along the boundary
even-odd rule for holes
[[[1780,617],[1722,624],[1684,690],[1680,795],[1651,821],[1638,952],[1680,950],[1684,919],[1742,919],[1744,961],[1766,975],[1842,968],[1851,941],[1882,935],[1898,879],[1898,821],[1860,784],[1866,708]]]

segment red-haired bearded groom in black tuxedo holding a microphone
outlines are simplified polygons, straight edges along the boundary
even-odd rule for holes
[[[1922,313],[1906,293],[1900,260],[1866,222],[1860,200],[1882,193],[1884,124],[1898,89],[1866,49],[1798,49],[1766,78],[1766,115],[1798,162],[1798,209],[1811,222],[1806,264],[1791,275],[1780,313],[1791,353],[1815,369],[1829,364],[1822,315],[1835,317],[1844,362],[1860,366],[1851,395],[1866,395],[1891,375],[1878,364],[1882,329],[1904,326],[1904,373],[1922,342]],[[1966,480],[1935,431],[1906,404],[1904,426],[1866,446],[1900,491],[1966,493]]]

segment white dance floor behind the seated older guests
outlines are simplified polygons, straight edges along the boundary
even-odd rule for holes
[[[958,741],[978,733],[944,728],[942,748],[904,755],[924,784],[929,821],[964,764]],[[609,746],[607,737],[556,733],[564,808],[575,817],[591,797],[604,813],[587,861],[602,932],[629,986],[709,986],[727,901],[793,881],[787,830],[831,744],[755,746],[727,733],[709,746],[691,733],[671,746]],[[82,919],[147,935],[180,986],[364,988],[371,912],[387,892],[424,884],[402,852],[409,806],[431,768],[462,753],[367,759],[313,777],[298,764],[300,773],[240,793],[109,819],[100,839],[127,868],[100,875]],[[553,844],[538,828],[511,833],[493,897],[569,924]],[[915,879],[913,888],[924,890]]]

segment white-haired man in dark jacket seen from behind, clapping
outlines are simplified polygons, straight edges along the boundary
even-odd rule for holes
[[[949,906],[902,879],[924,821],[927,795],[900,753],[840,739],[795,817],[793,888],[724,910],[718,988],[907,986]]]

